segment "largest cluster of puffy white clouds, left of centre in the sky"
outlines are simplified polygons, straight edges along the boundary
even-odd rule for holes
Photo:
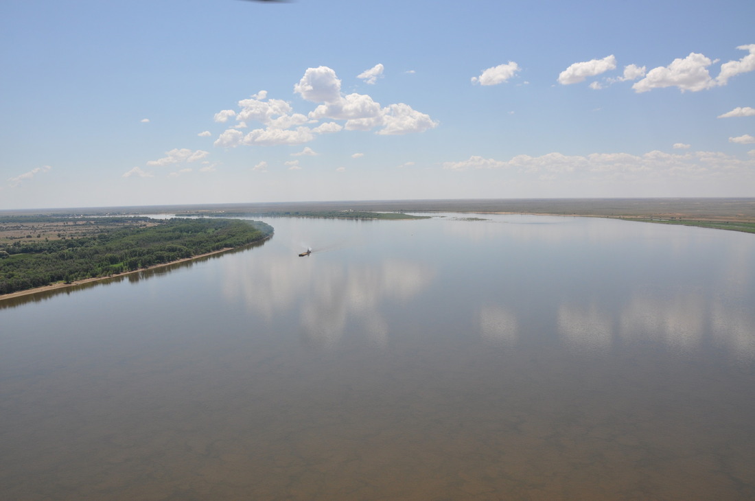
[[[378,64],[359,75],[367,83],[382,75]],[[381,106],[367,94],[341,92],[341,79],[328,66],[308,68],[294,85],[294,93],[310,103],[316,103],[307,115],[294,112],[291,104],[268,99],[267,91],[260,91],[249,99],[240,100],[240,111],[223,110],[215,121],[225,122],[236,117],[239,123],[254,121],[264,128],[243,134],[238,127],[228,128],[215,140],[215,146],[233,148],[241,145],[273,146],[309,143],[318,134],[332,134],[343,130],[371,131],[377,134],[411,134],[436,127],[429,115],[418,112],[408,104]],[[341,123],[339,123],[341,122]],[[304,153],[303,153],[304,154]]]

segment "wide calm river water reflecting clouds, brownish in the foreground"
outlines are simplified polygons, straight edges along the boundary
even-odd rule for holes
[[[0,498],[755,498],[755,235],[484,217],[0,303]]]

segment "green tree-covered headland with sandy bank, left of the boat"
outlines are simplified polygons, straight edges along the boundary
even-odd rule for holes
[[[8,218],[3,222],[8,223]],[[75,222],[94,225],[102,220],[85,217]],[[143,223],[141,218],[109,218],[109,223],[125,226],[106,227],[96,235],[78,238],[27,238],[0,244],[0,295],[132,272],[242,247],[273,235],[273,227],[265,223],[232,219],[150,220],[151,226],[146,227],[137,224]]]

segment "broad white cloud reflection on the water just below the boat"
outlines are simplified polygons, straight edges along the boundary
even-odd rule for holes
[[[241,298],[268,321],[298,311],[304,335],[319,346],[334,346],[350,327],[351,333],[383,346],[389,336],[385,303],[411,299],[434,275],[421,263],[402,260],[361,266],[321,261],[308,266],[306,261],[269,256],[263,262],[224,264],[225,297]]]

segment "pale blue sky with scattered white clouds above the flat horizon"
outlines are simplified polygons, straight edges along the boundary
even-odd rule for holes
[[[755,2],[5,0],[0,209],[755,196]]]

